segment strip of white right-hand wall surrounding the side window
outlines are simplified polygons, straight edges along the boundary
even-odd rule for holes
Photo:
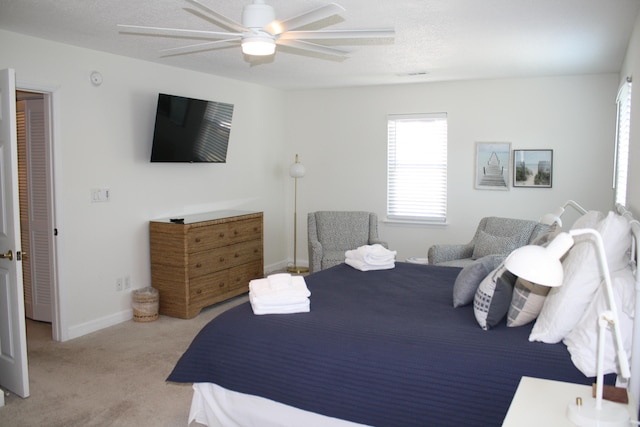
[[[629,186],[627,206],[640,218],[640,15],[636,18],[633,35],[627,48],[627,56],[620,72],[620,82],[631,76],[631,148],[629,152]]]

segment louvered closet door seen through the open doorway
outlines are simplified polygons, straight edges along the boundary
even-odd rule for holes
[[[49,162],[44,100],[27,101],[26,108],[28,161],[28,229],[29,250],[25,264],[31,270],[31,305],[33,319],[51,322],[52,245],[49,209]],[[23,248],[24,249],[24,248]]]

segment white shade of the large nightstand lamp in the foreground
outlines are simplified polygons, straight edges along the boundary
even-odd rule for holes
[[[573,246],[568,233],[560,233],[545,248],[528,245],[511,252],[504,262],[507,270],[531,283],[556,287],[562,285],[564,271],[560,258]]]

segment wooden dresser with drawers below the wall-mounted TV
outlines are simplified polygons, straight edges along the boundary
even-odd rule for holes
[[[151,285],[160,293],[160,314],[190,319],[264,277],[263,217],[229,210],[183,219],[149,224]]]

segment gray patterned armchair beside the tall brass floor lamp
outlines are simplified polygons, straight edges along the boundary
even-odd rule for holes
[[[344,253],[363,245],[387,243],[378,239],[378,216],[372,212],[320,211],[307,217],[309,271],[344,262]]]

